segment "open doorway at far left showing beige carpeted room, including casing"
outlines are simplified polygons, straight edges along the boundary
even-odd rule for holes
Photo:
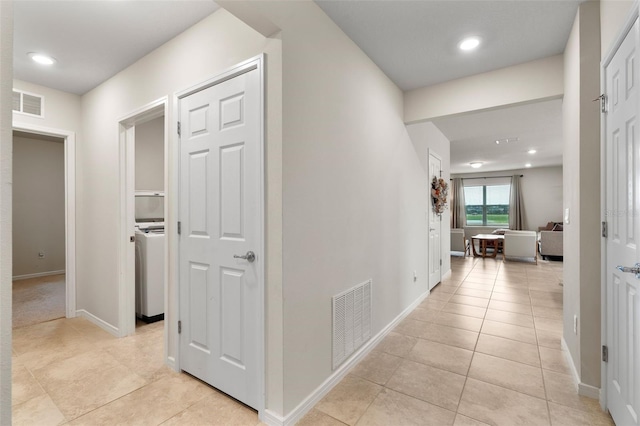
[[[13,328],[75,317],[75,135],[14,125]]]

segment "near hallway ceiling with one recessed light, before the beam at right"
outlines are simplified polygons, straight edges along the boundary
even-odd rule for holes
[[[564,51],[584,0],[315,0],[402,90]],[[458,42],[482,39],[473,52]]]

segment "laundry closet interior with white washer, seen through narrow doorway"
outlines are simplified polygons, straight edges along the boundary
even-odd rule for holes
[[[136,317],[164,319],[164,117],[135,128]]]

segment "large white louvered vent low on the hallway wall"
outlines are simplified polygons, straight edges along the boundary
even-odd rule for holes
[[[371,338],[371,280],[332,298],[333,369]]]

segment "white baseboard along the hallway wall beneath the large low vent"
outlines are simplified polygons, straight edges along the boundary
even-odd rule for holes
[[[424,299],[429,295],[429,290],[418,297],[411,305],[402,311],[393,321],[391,321],[378,334],[373,336],[367,343],[358,349],[349,359],[347,359],[340,367],[338,367],[331,376],[329,376],[315,391],[307,396],[296,408],[289,414],[281,417],[275,413],[265,410],[262,420],[269,426],[292,426],[304,417],[340,380],[342,380],[349,370],[358,364],[366,355],[376,347],[378,343],[385,338],[393,328],[407,317]]]

